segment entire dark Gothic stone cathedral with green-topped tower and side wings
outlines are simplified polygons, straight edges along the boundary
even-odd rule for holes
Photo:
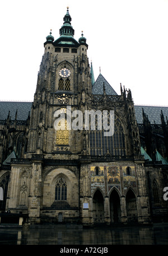
[[[46,37],[34,101],[0,102],[0,225],[167,222],[168,107],[95,80],[71,21]]]

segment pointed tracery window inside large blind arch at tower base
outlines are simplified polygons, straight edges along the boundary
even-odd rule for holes
[[[55,200],[67,200],[67,183],[63,178],[55,185]]]

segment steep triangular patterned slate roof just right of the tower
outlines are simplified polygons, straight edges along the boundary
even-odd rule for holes
[[[92,93],[96,95],[103,95],[103,83],[105,85],[107,95],[118,95],[101,73],[99,74],[99,77],[97,77],[97,80],[92,87]]]

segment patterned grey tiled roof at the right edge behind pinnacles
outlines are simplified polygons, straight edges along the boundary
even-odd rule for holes
[[[161,110],[165,117],[166,122],[166,116],[168,117],[168,107],[165,106],[134,106],[135,113],[136,113],[136,119],[138,124],[143,123],[143,117],[142,117],[142,109],[144,110],[144,113],[148,115],[148,119],[150,120],[151,124],[161,124]],[[154,122],[155,121],[155,122]]]

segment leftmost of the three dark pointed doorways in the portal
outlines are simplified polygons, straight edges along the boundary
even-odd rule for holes
[[[94,223],[104,223],[104,198],[99,189],[93,197],[93,217]]]

